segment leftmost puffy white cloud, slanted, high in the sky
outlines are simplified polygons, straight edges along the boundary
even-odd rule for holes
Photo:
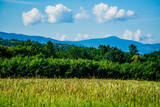
[[[29,12],[23,12],[22,18],[23,18],[23,24],[25,26],[38,22],[44,22],[44,16],[37,8],[33,8]]]

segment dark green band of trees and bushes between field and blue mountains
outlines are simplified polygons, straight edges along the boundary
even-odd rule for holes
[[[160,80],[160,50],[140,55],[109,45],[78,47],[0,38],[1,78],[107,78]]]

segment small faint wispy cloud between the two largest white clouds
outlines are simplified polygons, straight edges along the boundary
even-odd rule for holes
[[[81,13],[77,13],[75,18],[76,19],[88,19],[89,14],[83,9],[83,7],[80,7]]]

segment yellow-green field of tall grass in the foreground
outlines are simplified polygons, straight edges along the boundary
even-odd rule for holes
[[[106,79],[0,79],[0,107],[158,107],[160,82]]]

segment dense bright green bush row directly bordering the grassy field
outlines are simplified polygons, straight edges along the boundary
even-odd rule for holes
[[[107,60],[45,59],[34,57],[12,57],[0,59],[0,76],[45,77],[45,78],[112,78],[160,80],[159,62],[113,63]]]

